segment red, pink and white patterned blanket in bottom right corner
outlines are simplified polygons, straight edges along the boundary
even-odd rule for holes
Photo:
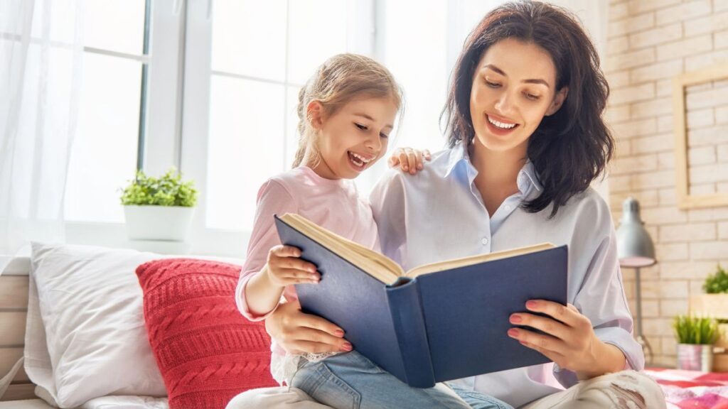
[[[668,409],[728,409],[728,373],[647,368],[665,393]]]

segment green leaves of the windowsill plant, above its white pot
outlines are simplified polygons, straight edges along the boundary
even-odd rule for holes
[[[183,182],[182,174],[174,167],[160,178],[147,176],[141,170],[122,191],[124,206],[182,206],[197,203],[197,189],[191,180]]]

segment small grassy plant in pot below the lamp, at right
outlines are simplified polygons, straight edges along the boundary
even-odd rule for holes
[[[678,338],[678,369],[713,370],[713,344],[719,337],[718,321],[695,315],[678,315],[673,321]]]

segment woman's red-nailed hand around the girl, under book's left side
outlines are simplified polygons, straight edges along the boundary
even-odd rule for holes
[[[298,301],[280,304],[266,318],[266,331],[289,354],[352,350],[344,330],[322,317],[304,314]]]

